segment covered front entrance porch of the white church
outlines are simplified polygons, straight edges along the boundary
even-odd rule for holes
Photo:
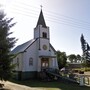
[[[40,72],[47,68],[58,69],[56,56],[39,56],[37,71]]]

